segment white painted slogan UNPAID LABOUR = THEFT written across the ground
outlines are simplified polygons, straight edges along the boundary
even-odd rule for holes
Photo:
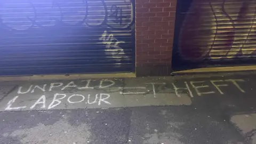
[[[19,86],[17,89],[17,95],[13,97],[5,107],[5,110],[20,110],[20,109],[54,109],[60,106],[63,101],[69,105],[76,105],[77,103],[84,103],[84,105],[111,105],[111,95],[106,92],[106,90],[115,89],[115,94],[120,94],[118,97],[125,97],[125,95],[151,95],[153,98],[158,98],[159,87],[161,87],[161,93],[174,94],[180,98],[182,94],[190,98],[195,96],[202,96],[206,94],[225,94],[225,87],[233,87],[237,92],[245,93],[244,87],[241,86],[245,81],[243,79],[219,79],[219,80],[207,80],[207,81],[190,81],[181,83],[171,83],[171,87],[168,87],[166,83],[144,83],[145,87],[128,87],[119,86],[116,82],[121,82],[118,80],[101,79],[92,80],[86,79],[82,81],[71,81],[67,84],[56,82],[40,85],[29,85],[29,86]],[[94,82],[94,83],[92,83]],[[95,82],[97,84],[95,84]],[[182,86],[183,85],[183,86]],[[72,93],[68,93],[70,90],[75,90]],[[170,91],[171,90],[171,91]],[[94,91],[95,94],[88,94],[87,92]],[[105,92],[102,92],[105,91]],[[184,92],[186,91],[186,92]],[[42,93],[41,96],[35,100],[33,105],[30,106],[13,106],[14,103],[19,101],[20,95]],[[53,98],[49,101],[49,94],[52,94]],[[80,93],[77,93],[80,92]],[[46,95],[48,95],[46,97]],[[48,98],[48,99],[47,99]],[[46,105],[48,101],[49,105]]]

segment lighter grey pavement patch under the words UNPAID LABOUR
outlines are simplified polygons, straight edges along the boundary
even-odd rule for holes
[[[155,82],[157,80],[157,82]],[[78,79],[26,81],[0,102],[0,110],[46,110],[190,105],[188,94],[177,97],[161,79]],[[171,93],[170,93],[171,92]]]

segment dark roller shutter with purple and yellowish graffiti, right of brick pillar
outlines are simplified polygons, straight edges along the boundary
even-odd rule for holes
[[[256,1],[178,1],[173,65],[209,67],[256,63]]]

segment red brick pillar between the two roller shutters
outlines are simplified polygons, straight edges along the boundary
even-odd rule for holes
[[[137,76],[170,75],[176,0],[135,0]]]

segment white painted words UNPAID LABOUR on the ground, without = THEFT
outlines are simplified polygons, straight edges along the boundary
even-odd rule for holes
[[[91,79],[87,80],[82,80],[81,82],[86,82],[85,86],[77,86],[74,81],[69,82],[68,84],[64,85],[63,83],[50,83],[50,84],[44,84],[43,86],[39,85],[30,85],[29,87],[23,87],[19,86],[17,90],[17,94],[28,94],[28,93],[35,93],[35,91],[39,92],[51,92],[55,91],[56,89],[60,89],[60,91],[65,91],[67,89],[77,89],[77,90],[86,90],[86,89],[94,89],[94,86],[91,86]],[[105,89],[107,87],[113,86],[115,84],[114,81],[109,80],[109,79],[102,79],[97,86],[99,89]],[[46,89],[46,87],[49,87]],[[57,90],[59,91],[59,90]],[[26,108],[27,106],[21,106],[21,107],[12,107],[13,103],[19,98],[19,95],[15,96],[13,99],[11,99],[7,103],[7,107],[5,110],[18,110],[18,109],[23,109]],[[37,101],[34,103],[34,105],[30,106],[30,109],[35,108],[37,105],[40,105],[42,109],[52,109],[58,105],[61,104],[62,100],[67,98],[67,102],[70,104],[74,103],[81,103],[84,102],[86,105],[92,105],[92,104],[97,104],[100,106],[102,103],[105,103],[107,105],[111,105],[111,103],[108,101],[110,98],[110,94],[106,93],[99,93],[95,95],[91,94],[71,94],[68,95],[66,93],[55,93],[53,96],[53,99],[51,100],[50,105],[47,107],[46,106],[46,97],[45,94],[42,95]]]

